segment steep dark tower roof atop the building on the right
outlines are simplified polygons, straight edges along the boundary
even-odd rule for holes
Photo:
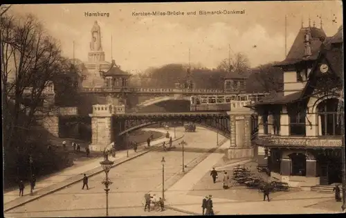
[[[309,32],[310,34],[310,47],[311,55],[307,58],[304,57],[304,36]],[[276,66],[287,66],[291,64],[296,64],[302,60],[316,60],[318,57],[318,52],[320,51],[320,46],[322,41],[326,38],[325,31],[316,27],[300,28],[297,37],[289,50],[289,53],[284,61],[276,64]],[[323,39],[322,39],[323,38]],[[321,40],[322,39],[322,40]]]

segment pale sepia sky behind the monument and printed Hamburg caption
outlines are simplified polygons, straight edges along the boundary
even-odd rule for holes
[[[133,12],[197,12],[184,16],[133,16]],[[244,15],[199,15],[199,10],[244,10]],[[213,68],[231,53],[248,55],[251,66],[284,59],[284,16],[287,15],[287,49],[302,25],[316,21],[327,36],[342,24],[341,1],[264,1],[214,3],[100,3],[14,5],[11,13],[33,13],[50,34],[59,39],[64,55],[86,61],[95,20],[101,27],[102,47],[127,71],[150,66],[191,62]],[[108,12],[109,17],[86,17],[85,12]],[[332,22],[336,19],[336,24]],[[254,48],[254,45],[257,47]],[[288,52],[288,51],[287,51]]]

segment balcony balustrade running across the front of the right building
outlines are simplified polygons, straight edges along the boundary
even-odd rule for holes
[[[257,136],[257,145],[282,147],[341,147],[340,137]]]

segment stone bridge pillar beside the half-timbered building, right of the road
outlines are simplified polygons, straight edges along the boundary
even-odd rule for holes
[[[253,158],[251,144],[251,116],[255,113],[249,108],[238,108],[227,112],[230,116],[230,147],[228,158]]]

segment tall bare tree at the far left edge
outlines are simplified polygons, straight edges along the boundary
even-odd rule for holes
[[[64,58],[57,41],[35,17],[2,16],[1,62],[4,146],[19,146],[37,119],[35,114],[53,109],[43,110],[42,99],[55,76],[64,71]]]

